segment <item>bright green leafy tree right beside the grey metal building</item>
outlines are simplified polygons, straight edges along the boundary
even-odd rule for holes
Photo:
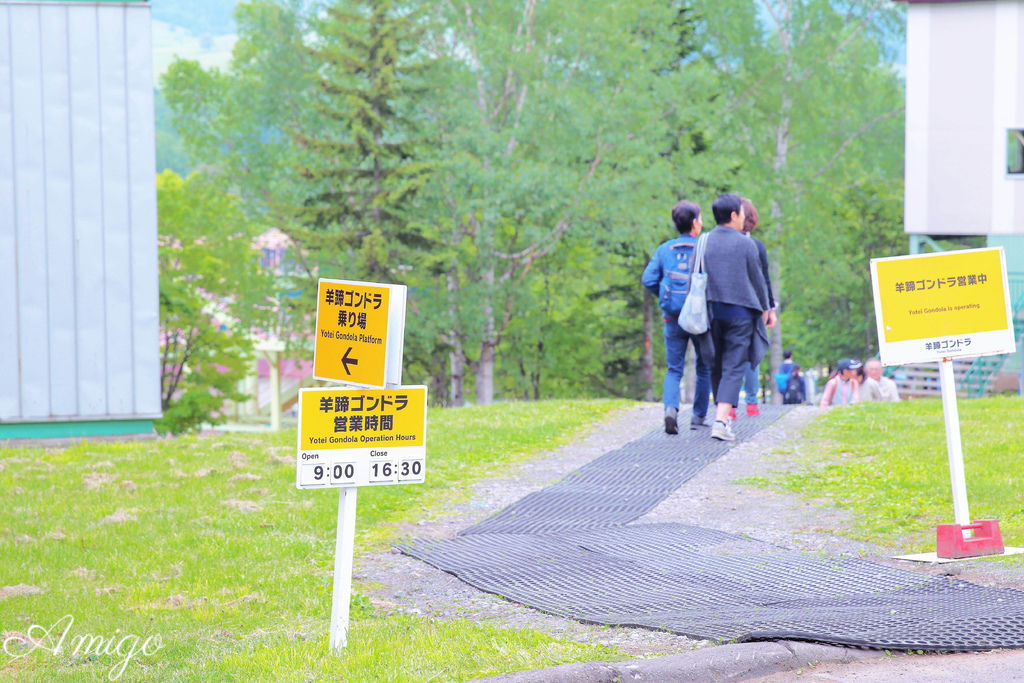
[[[223,421],[246,375],[253,337],[273,315],[253,224],[208,178],[157,177],[160,215],[161,407],[159,431]]]

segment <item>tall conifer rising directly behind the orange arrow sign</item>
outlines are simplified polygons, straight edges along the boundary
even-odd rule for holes
[[[413,117],[430,66],[422,20],[401,0],[341,0],[314,24],[316,116],[295,133],[306,155],[293,228],[311,273],[394,282],[423,245],[410,211],[430,175]]]

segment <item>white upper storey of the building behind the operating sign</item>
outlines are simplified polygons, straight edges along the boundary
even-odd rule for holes
[[[904,228],[1001,244],[1024,233],[1024,0],[906,1]]]

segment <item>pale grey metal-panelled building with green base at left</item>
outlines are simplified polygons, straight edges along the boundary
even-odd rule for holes
[[[0,441],[160,417],[150,6],[0,0]]]

